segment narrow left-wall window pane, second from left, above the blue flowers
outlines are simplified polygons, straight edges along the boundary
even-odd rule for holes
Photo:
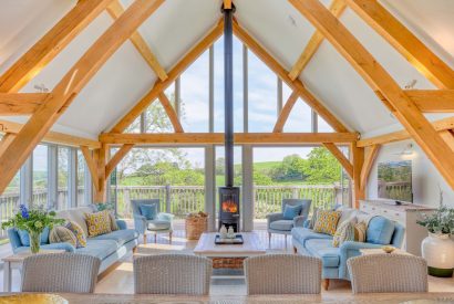
[[[48,146],[38,145],[33,150],[33,206],[48,203]]]

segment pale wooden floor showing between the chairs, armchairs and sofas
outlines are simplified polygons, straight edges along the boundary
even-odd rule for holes
[[[258,233],[264,245],[268,248],[268,233],[266,232],[266,222],[255,222],[255,231]],[[142,238],[141,242],[142,242]],[[142,244],[141,244],[142,245]],[[175,224],[175,232],[173,237],[172,245],[168,244],[168,235],[162,234],[157,238],[157,244],[154,244],[154,240],[149,237],[148,244],[149,250],[156,250],[159,252],[165,251],[190,251],[196,245],[196,241],[187,241],[185,239],[183,222],[177,221]],[[9,248],[9,245],[8,245]],[[285,248],[283,235],[274,235],[271,239],[271,245],[267,249],[269,252],[292,252],[291,238],[288,238],[287,249]],[[0,254],[6,255],[8,249],[2,247]],[[0,273],[0,285],[2,285],[2,276]],[[12,291],[19,291],[19,272],[13,273]],[[453,292],[454,293],[454,279],[437,279],[430,276],[429,280],[430,292]],[[112,268],[105,275],[101,276],[96,285],[95,293],[134,293],[134,279],[133,279],[133,265],[132,254],[125,256],[121,263]],[[344,294],[351,293],[350,283],[348,281],[332,280],[330,283],[329,294]],[[213,295],[246,295],[246,286],[243,279],[213,279],[210,294]]]

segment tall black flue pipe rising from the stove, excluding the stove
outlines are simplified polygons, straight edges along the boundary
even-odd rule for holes
[[[225,150],[226,186],[234,187],[234,12],[221,8],[224,13],[224,106],[225,106]]]

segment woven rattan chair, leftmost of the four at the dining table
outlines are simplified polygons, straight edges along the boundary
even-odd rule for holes
[[[101,261],[75,253],[29,256],[23,261],[22,292],[93,293]]]

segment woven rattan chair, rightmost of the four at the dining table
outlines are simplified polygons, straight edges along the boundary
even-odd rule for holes
[[[353,293],[427,292],[427,263],[403,254],[369,254],[347,261]]]

